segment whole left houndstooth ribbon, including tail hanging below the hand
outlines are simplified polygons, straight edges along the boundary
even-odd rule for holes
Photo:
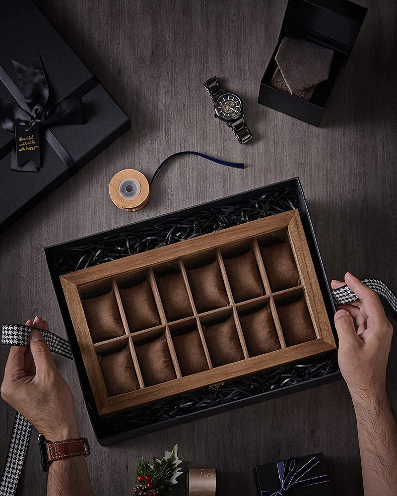
[[[29,327],[28,325],[3,324],[1,343],[12,346],[29,346],[29,335],[33,329],[34,327]],[[71,360],[73,359],[69,343],[66,339],[45,329],[39,329],[39,331],[43,334],[52,352],[70,358]],[[15,495],[23,462],[25,461],[31,431],[31,424],[17,412],[0,481],[0,496]]]

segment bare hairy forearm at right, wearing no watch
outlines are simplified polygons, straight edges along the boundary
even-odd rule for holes
[[[353,397],[365,496],[397,495],[397,424],[386,390]]]

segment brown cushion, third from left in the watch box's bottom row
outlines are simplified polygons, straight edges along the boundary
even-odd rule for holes
[[[208,370],[204,348],[197,329],[173,336],[172,340],[182,375],[191,375]]]

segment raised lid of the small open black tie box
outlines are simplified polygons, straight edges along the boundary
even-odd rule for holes
[[[289,0],[281,32],[294,24],[351,48],[367,10],[347,0]]]

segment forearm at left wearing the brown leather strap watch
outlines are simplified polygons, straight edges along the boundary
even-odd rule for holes
[[[49,435],[59,440],[80,437],[77,422],[73,422],[57,434]],[[48,470],[47,496],[75,495],[92,496],[91,481],[84,456],[54,461]]]

